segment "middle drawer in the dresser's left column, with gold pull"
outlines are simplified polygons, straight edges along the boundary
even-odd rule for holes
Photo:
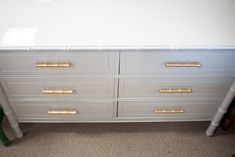
[[[19,98],[110,98],[114,79],[7,78],[0,79],[9,100]]]

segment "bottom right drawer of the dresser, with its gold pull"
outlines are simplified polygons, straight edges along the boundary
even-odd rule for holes
[[[156,118],[159,120],[194,120],[211,119],[220,101],[120,101],[118,103],[119,118]]]

